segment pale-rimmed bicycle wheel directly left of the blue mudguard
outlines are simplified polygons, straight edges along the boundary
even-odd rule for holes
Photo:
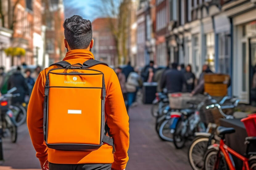
[[[173,134],[171,133],[170,126],[173,122],[173,119],[164,120],[159,128],[159,137],[162,140],[173,141]]]

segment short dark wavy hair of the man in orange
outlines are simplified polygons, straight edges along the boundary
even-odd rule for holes
[[[64,23],[64,35],[71,49],[87,49],[93,38],[92,23],[79,15],[67,18]]]

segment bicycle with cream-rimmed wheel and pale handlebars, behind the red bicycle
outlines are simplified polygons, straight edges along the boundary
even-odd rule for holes
[[[222,109],[235,108],[238,103],[239,99],[237,97],[226,96],[219,103],[206,106],[205,108],[211,109],[217,107],[224,118],[233,118],[233,116],[223,113]],[[216,141],[220,141],[220,138],[214,134],[216,129],[216,124],[209,123],[206,132],[195,133],[197,137],[192,141],[188,149],[188,160],[194,170],[204,169],[204,154],[208,146],[214,144]]]

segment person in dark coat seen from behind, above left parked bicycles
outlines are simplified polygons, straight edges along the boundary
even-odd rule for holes
[[[21,74],[21,68],[18,66],[17,71],[13,73],[8,79],[8,90],[11,88],[16,87],[17,90],[14,91],[13,93],[19,93],[20,96],[18,97],[13,97],[12,98],[12,103],[23,103],[25,99],[25,95],[29,93],[27,83],[25,81],[25,78]]]

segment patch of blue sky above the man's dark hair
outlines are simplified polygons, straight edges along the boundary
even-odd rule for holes
[[[96,4],[99,0],[63,0],[65,18],[72,15],[81,15],[85,19],[89,19],[91,22],[98,17]]]

